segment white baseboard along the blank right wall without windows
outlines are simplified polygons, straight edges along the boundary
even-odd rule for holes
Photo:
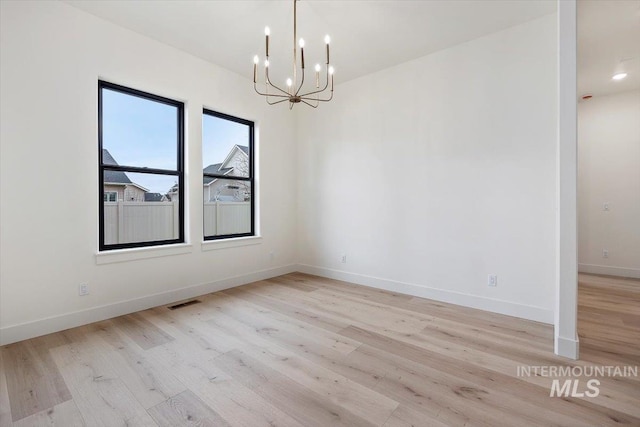
[[[395,280],[381,279],[378,277],[366,276],[357,273],[348,273],[346,271],[333,270],[330,268],[317,267],[306,264],[299,264],[298,271],[307,274],[314,274],[316,276],[327,277],[329,279],[343,280],[345,282],[356,283],[358,285],[371,286],[373,288],[384,289],[387,291],[399,292],[417,297],[462,305],[465,307],[477,308],[493,313],[506,314],[508,316],[534,320],[536,322],[553,324],[553,310],[547,310],[542,307],[517,304],[510,301],[463,294],[460,292],[430,288],[427,286],[421,286],[412,283],[403,283]]]

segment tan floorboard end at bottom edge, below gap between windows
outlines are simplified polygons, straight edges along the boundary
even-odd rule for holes
[[[230,425],[189,390],[154,406],[149,409],[149,414],[160,427]]]

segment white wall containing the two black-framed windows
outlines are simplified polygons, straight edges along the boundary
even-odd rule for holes
[[[61,2],[3,1],[0,15],[0,342],[292,268],[293,116],[255,96],[250,63],[245,78]],[[186,102],[191,246],[181,255],[97,263],[98,78]],[[203,106],[255,120],[258,163],[277,165],[259,171],[260,244],[201,248]],[[171,251],[144,254],[157,253]],[[78,296],[80,283],[90,295]]]

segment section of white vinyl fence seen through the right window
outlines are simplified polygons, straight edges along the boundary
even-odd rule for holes
[[[249,233],[251,202],[211,202],[204,204],[204,235]]]

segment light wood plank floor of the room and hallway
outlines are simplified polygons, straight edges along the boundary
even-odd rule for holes
[[[640,283],[580,276],[549,325],[289,274],[0,351],[2,426],[640,426],[640,378],[549,397],[519,366],[637,365]]]

